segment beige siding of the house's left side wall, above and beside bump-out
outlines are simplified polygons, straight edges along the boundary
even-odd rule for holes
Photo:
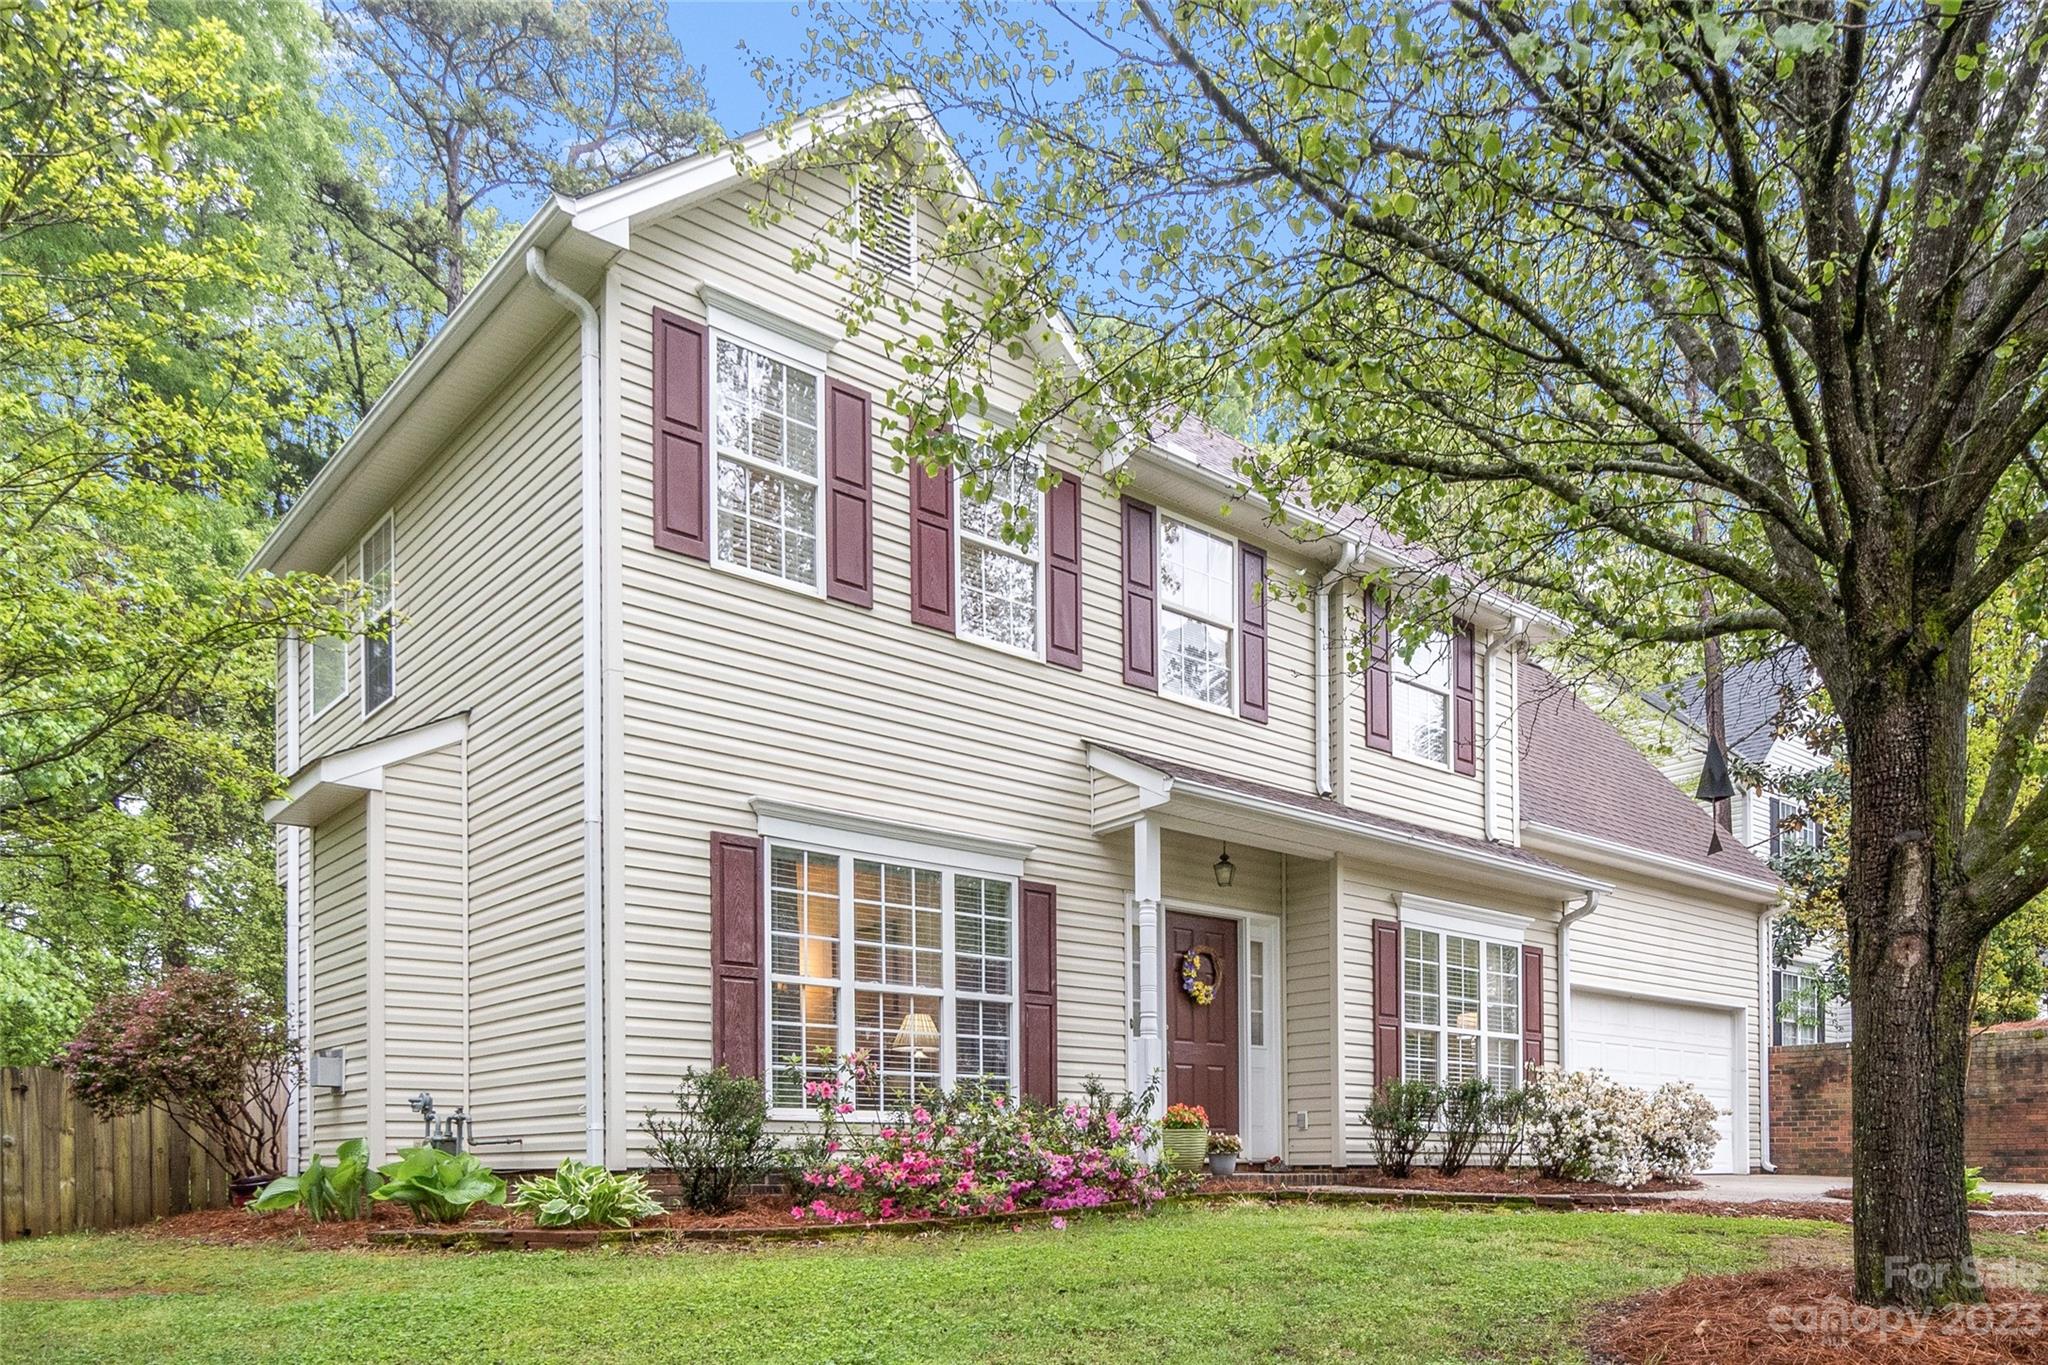
[[[362,718],[352,643],[346,700],[301,741],[309,763],[469,718],[469,1103],[479,1134],[522,1140],[510,1166],[586,1150],[578,405],[565,319],[393,505],[395,698]]]

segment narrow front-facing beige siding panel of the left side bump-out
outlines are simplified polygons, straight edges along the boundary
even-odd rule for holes
[[[410,1140],[422,1091],[467,1105],[463,751],[385,769],[385,1130]]]

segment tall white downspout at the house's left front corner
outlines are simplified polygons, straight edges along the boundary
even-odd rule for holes
[[[584,1160],[604,1162],[604,334],[598,309],[526,248],[526,274],[575,313],[582,332],[582,669],[584,669]]]

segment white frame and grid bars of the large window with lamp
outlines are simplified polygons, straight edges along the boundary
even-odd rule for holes
[[[954,915],[954,880],[961,876],[981,878],[989,882],[1010,884],[1010,1064],[1008,1064],[1008,1091],[1018,1093],[1018,1066],[1020,1066],[1020,1044],[1018,1019],[1020,1019],[1020,997],[1022,997],[1022,976],[1018,970],[1018,952],[1022,945],[1018,917],[1022,915],[1022,851],[1012,855],[1010,849],[1022,849],[1022,845],[1001,847],[997,841],[985,841],[979,837],[969,837],[965,845],[944,843],[946,835],[942,831],[926,831],[924,837],[915,837],[911,827],[911,837],[899,833],[874,833],[862,829],[860,825],[877,825],[864,821],[862,817],[850,817],[846,823],[838,823],[829,812],[805,812],[813,819],[803,819],[801,814],[784,814],[782,808],[772,802],[756,802],[756,808],[774,810],[774,814],[762,814],[758,819],[758,833],[762,837],[762,943],[768,948],[770,960],[764,972],[762,993],[762,1054],[766,1058],[764,1085],[768,1087],[768,1117],[770,1119],[809,1119],[811,1109],[801,1105],[778,1105],[774,1103],[774,1081],[782,1070],[782,1058],[774,1056],[774,984],[778,980],[831,986],[838,990],[840,1013],[836,1021],[836,1042],[834,1048],[838,1056],[846,1056],[854,1050],[854,995],[860,990],[881,990],[883,995],[918,995],[932,997],[944,1011],[940,1017],[938,1038],[938,1085],[950,1089],[956,1083],[958,1068],[958,1019],[954,1013],[954,1003],[961,999],[987,1001],[989,995],[981,990],[961,990],[954,980],[954,939],[956,939],[956,915]],[[797,808],[788,808],[797,810]],[[823,821],[815,817],[825,817]],[[856,825],[858,821],[860,825]],[[993,845],[993,847],[991,847]],[[782,974],[774,970],[774,905],[772,905],[772,868],[774,849],[786,847],[803,853],[823,853],[827,857],[840,860],[840,976],[836,980],[823,980],[803,974]],[[1024,849],[1028,851],[1028,849]],[[938,872],[940,886],[940,923],[942,952],[940,952],[940,988],[915,988],[915,986],[879,986],[877,982],[858,982],[854,978],[854,896],[852,896],[852,862],[883,862],[883,864],[909,864],[924,872]],[[887,1117],[891,1111],[883,1109],[858,1109],[844,1115],[856,1124],[874,1124]]]

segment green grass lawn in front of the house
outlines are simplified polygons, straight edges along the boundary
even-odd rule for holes
[[[1585,1314],[1839,1228],[1755,1218],[1169,1207],[770,1250],[0,1248],[8,1361],[1577,1359]]]

